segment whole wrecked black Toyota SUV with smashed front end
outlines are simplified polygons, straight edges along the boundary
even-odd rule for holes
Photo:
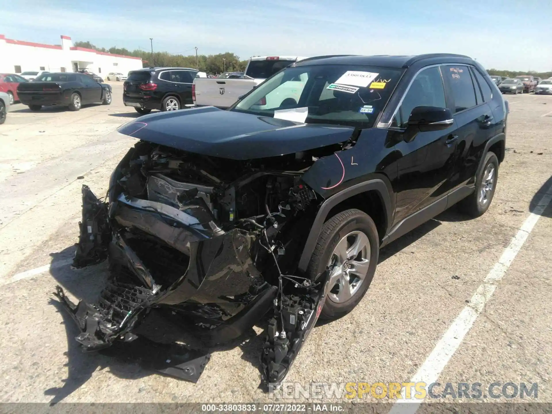
[[[108,258],[109,283],[97,304],[57,289],[77,341],[136,349],[146,339],[135,328],[155,307],[199,345],[141,360],[197,381],[214,344],[264,317],[263,380],[280,383],[318,317],[363,298],[381,247],[455,204],[473,217],[489,209],[507,114],[467,56],[323,56],[228,110],[121,126],[139,141],[107,200],[83,186],[73,262]]]

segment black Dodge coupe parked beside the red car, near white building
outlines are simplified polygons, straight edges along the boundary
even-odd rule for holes
[[[82,105],[101,102],[111,104],[111,86],[98,83],[83,73],[44,73],[33,82],[20,83],[19,100],[31,110],[46,105],[60,105],[78,111]]]

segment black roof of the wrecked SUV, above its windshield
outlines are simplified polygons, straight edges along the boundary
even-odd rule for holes
[[[471,57],[465,55],[455,55],[448,53],[434,53],[426,55],[329,55],[316,56],[309,59],[301,60],[293,66],[307,65],[364,65],[364,66],[380,66],[390,68],[406,68],[412,66],[413,63],[428,61],[436,63],[469,63]]]

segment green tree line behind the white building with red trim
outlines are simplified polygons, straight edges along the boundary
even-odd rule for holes
[[[210,75],[216,75],[222,72],[243,72],[248,60],[240,60],[240,57],[231,52],[219,53],[217,55],[180,55],[169,52],[151,52],[141,49],[128,50],[124,47],[98,47],[89,41],[76,41],[73,43],[76,47],[86,47],[99,52],[109,52],[115,55],[126,55],[140,57],[144,67],[150,66],[173,66],[173,67],[193,67],[201,72],[207,72]]]

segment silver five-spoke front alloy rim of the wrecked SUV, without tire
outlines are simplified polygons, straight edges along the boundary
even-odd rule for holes
[[[362,231],[352,231],[344,236],[328,262],[330,273],[330,298],[341,303],[352,298],[362,285],[370,265],[370,241]]]

